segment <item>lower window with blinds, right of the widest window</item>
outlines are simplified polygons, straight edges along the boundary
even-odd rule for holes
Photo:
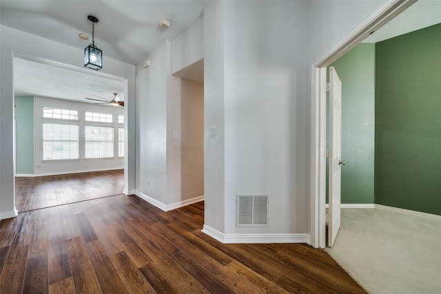
[[[113,154],[113,127],[86,125],[85,158],[109,158]]]

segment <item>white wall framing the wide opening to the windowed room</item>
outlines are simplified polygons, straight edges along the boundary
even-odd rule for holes
[[[37,56],[83,68],[83,50],[34,36],[19,30],[0,26],[0,218],[14,216],[14,90],[13,56],[14,54]],[[105,65],[100,72],[127,78],[125,93],[125,117],[129,132],[125,132],[125,142],[134,142],[134,118],[128,113],[134,112],[134,65],[108,59],[104,55]],[[128,144],[125,156],[125,191],[134,190],[134,144]]]

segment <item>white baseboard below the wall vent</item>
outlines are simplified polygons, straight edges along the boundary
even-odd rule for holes
[[[258,233],[258,234],[224,234],[212,227],[204,224],[202,232],[224,244],[233,243],[307,243],[311,244],[311,236],[309,234],[274,234],[274,233]]]

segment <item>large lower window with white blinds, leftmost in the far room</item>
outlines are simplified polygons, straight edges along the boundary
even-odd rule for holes
[[[43,123],[43,160],[79,158],[79,126]]]

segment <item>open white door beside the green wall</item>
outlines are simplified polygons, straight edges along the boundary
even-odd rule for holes
[[[342,82],[329,67],[329,222],[328,246],[333,246],[340,229],[342,161]]]

